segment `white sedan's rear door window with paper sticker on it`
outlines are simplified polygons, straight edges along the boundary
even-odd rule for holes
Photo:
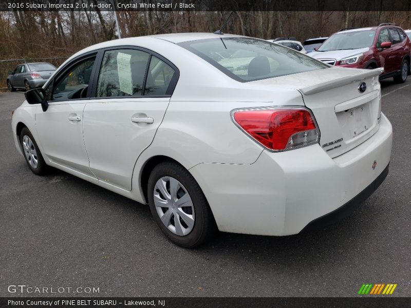
[[[97,84],[97,97],[142,95],[150,54],[141,50],[118,49],[104,52]]]

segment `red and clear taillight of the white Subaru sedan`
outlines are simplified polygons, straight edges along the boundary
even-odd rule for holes
[[[234,121],[252,138],[281,151],[319,142],[319,131],[307,109],[236,110]]]

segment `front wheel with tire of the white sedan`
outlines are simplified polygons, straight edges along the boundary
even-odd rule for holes
[[[23,148],[24,157],[31,171],[40,176],[46,172],[47,165],[40,152],[39,146],[35,142],[33,135],[27,127],[20,133],[20,143]]]

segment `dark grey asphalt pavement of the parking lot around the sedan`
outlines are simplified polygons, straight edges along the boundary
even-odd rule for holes
[[[411,80],[381,83],[390,170],[353,216],[287,237],[220,233],[196,249],[169,242],[146,205],[57,169],[32,174],[10,126],[24,93],[0,93],[0,296],[357,296],[363,283],[411,296]]]

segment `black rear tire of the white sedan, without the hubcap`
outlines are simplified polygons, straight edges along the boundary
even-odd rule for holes
[[[172,177],[179,181],[191,197],[194,206],[195,221],[191,232],[187,235],[179,236],[171,232],[171,230],[163,224],[157,213],[154,204],[154,189],[157,181],[163,177]],[[158,164],[151,172],[147,186],[148,203],[150,204],[150,210],[154,220],[162,232],[173,243],[182,247],[192,248],[201,245],[216,234],[217,226],[207,199],[196,180],[184,167],[173,162]]]

